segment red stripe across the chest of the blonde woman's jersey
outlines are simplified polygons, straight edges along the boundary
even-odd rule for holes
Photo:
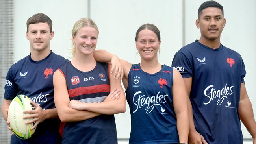
[[[110,85],[93,85],[89,87],[78,87],[75,89],[69,89],[69,97],[80,96],[82,94],[93,94],[98,92],[110,92]]]

